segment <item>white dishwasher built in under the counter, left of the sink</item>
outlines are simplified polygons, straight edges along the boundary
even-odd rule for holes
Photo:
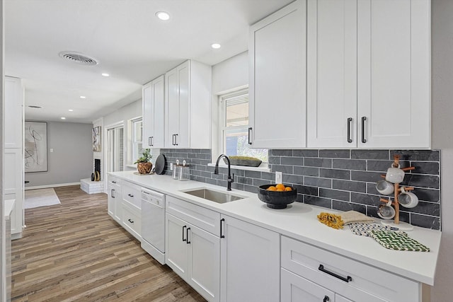
[[[142,248],[165,264],[165,195],[142,187]]]

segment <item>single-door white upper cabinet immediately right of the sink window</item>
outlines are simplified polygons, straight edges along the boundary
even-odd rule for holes
[[[248,53],[251,147],[306,146],[306,1],[252,25]]]

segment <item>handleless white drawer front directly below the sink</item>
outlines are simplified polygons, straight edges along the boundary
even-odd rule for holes
[[[166,211],[205,231],[220,236],[220,213],[175,197],[166,197]]]

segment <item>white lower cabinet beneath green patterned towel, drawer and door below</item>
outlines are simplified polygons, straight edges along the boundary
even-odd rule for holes
[[[420,284],[282,236],[281,301],[421,301]],[[327,298],[326,298],[327,296]]]

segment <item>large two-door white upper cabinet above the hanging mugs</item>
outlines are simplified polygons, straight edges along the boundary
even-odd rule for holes
[[[307,146],[430,147],[430,1],[308,0]]]

